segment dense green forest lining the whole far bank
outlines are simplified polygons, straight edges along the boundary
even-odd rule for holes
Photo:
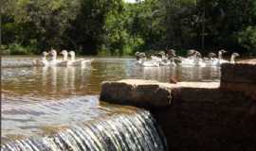
[[[256,54],[255,0],[5,0],[3,54],[132,55],[173,48]]]

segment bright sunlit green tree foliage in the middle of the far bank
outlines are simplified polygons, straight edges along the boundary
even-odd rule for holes
[[[132,55],[144,44],[142,38],[129,30],[133,21],[127,11],[130,11],[129,6],[120,2],[119,8],[111,9],[107,14],[102,47],[111,55]]]

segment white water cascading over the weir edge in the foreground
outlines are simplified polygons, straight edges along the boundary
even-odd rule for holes
[[[139,109],[71,126],[42,138],[5,143],[2,151],[164,151],[165,138],[155,119]]]

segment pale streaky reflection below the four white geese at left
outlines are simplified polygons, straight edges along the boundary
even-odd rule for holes
[[[62,93],[76,93],[84,91],[88,70],[84,67],[43,67],[42,70],[42,91],[51,94],[61,95]]]

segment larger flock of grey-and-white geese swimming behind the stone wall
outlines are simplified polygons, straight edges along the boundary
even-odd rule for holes
[[[218,56],[214,53],[210,53],[206,58],[202,58],[202,55],[196,50],[189,50],[187,58],[177,57],[174,49],[170,49],[167,53],[161,51],[156,56],[150,56],[147,59],[144,52],[137,52],[135,54],[137,58],[137,65],[142,67],[158,67],[158,66],[199,66],[199,67],[218,67],[222,63],[235,63],[235,58],[239,57],[238,53],[233,53],[230,60],[223,59],[222,55],[226,53],[224,49],[218,51]]]

